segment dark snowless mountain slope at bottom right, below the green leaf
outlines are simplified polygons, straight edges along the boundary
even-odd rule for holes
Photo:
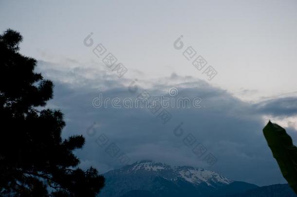
[[[259,187],[226,197],[297,197],[288,184]]]

